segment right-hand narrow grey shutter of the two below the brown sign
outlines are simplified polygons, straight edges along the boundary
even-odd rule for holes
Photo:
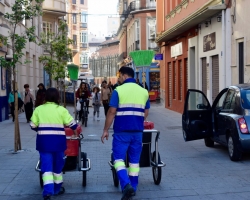
[[[212,57],[212,100],[219,94],[219,57]]]

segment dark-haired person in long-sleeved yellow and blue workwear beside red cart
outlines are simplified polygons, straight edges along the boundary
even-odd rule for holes
[[[34,110],[30,126],[37,131],[36,150],[40,154],[43,198],[50,200],[52,195],[65,192],[62,187],[64,151],[67,148],[64,126],[69,126],[74,130],[74,136],[77,135],[77,124],[68,110],[59,105],[56,88],[46,91],[45,103]]]

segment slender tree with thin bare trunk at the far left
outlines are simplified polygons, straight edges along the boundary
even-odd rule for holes
[[[18,95],[17,95],[17,67],[22,65],[21,58],[24,56],[23,49],[27,41],[36,42],[35,26],[26,27],[25,31],[18,34],[17,30],[23,21],[33,20],[35,17],[42,15],[42,2],[43,0],[15,0],[12,5],[11,13],[6,13],[4,18],[10,28],[9,36],[5,37],[0,35],[0,41],[12,50],[13,56],[9,61],[5,57],[0,57],[2,67],[6,68],[11,75],[13,75],[13,91],[15,98],[15,139],[14,151],[21,150],[21,139],[18,122]],[[28,61],[25,61],[28,62]],[[25,63],[24,63],[25,64]]]

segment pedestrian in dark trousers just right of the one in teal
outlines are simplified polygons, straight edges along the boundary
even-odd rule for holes
[[[24,86],[25,89],[25,96],[24,96],[24,111],[25,111],[25,116],[27,119],[27,123],[30,122],[30,118],[33,114],[33,101],[34,101],[34,96],[30,93],[29,89],[29,84],[25,84]]]

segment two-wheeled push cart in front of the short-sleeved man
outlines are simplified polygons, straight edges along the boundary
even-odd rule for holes
[[[144,128],[145,128],[145,122],[144,122]],[[155,135],[155,150],[151,152],[153,134]],[[143,146],[140,158],[140,167],[152,167],[153,179],[156,185],[159,185],[161,182],[161,174],[162,174],[161,168],[166,166],[166,164],[161,161],[160,153],[158,152],[159,136],[160,136],[160,131],[158,130],[144,129],[142,135]],[[111,161],[109,161],[108,163],[111,167],[114,186],[118,187],[119,179],[114,168],[112,153],[111,153]],[[129,167],[128,156],[126,156],[125,165]]]

